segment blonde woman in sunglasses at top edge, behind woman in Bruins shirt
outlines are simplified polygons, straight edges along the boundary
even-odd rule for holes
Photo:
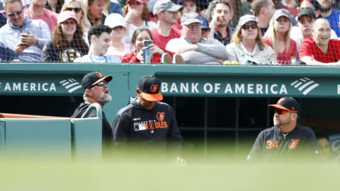
[[[89,45],[87,33],[91,28],[91,23],[89,21],[89,18],[87,17],[87,11],[84,2],[81,0],[67,0],[62,6],[61,11],[73,11],[74,13],[76,13],[78,25],[84,33],[83,38],[86,44]]]

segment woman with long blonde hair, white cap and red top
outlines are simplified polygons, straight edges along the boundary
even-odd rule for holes
[[[290,13],[285,9],[276,10],[263,37],[276,52],[278,63],[285,65],[294,64],[297,55],[296,42],[290,39],[292,25],[289,16]]]

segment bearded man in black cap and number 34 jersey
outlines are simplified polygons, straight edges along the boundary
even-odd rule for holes
[[[249,161],[271,161],[298,156],[317,156],[317,139],[309,127],[297,124],[300,105],[294,98],[280,98],[274,108],[274,126],[260,132],[248,156]]]

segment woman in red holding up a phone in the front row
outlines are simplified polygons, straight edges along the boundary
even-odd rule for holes
[[[147,45],[149,44],[149,45]],[[123,62],[125,63],[146,63],[144,62],[143,50],[149,49],[152,54],[151,63],[172,63],[170,54],[154,45],[152,35],[147,28],[138,28],[132,35],[131,45],[135,47],[135,51],[130,54],[125,54]]]

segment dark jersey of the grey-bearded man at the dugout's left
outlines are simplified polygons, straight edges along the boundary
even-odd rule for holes
[[[81,115],[83,115],[84,112],[87,110],[87,108],[89,108],[89,106],[90,106],[90,104],[88,104],[88,103],[81,103],[78,106],[78,108],[74,111],[74,114],[71,117],[80,118]],[[96,110],[92,110],[89,117],[97,117]],[[110,126],[110,123],[108,122],[108,120],[106,120],[106,116],[105,116],[104,111],[103,111],[103,115],[102,115],[102,122],[103,122],[103,124],[102,124],[103,143],[110,144],[110,142],[113,141],[113,133],[112,133],[112,128]]]

